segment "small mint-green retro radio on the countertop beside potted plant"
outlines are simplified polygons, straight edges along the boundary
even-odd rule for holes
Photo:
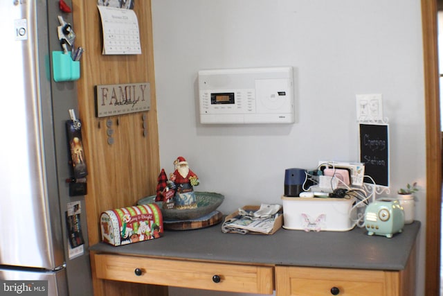
[[[393,234],[402,232],[404,211],[398,200],[376,200],[365,209],[365,228],[368,235],[377,234],[392,238]]]

